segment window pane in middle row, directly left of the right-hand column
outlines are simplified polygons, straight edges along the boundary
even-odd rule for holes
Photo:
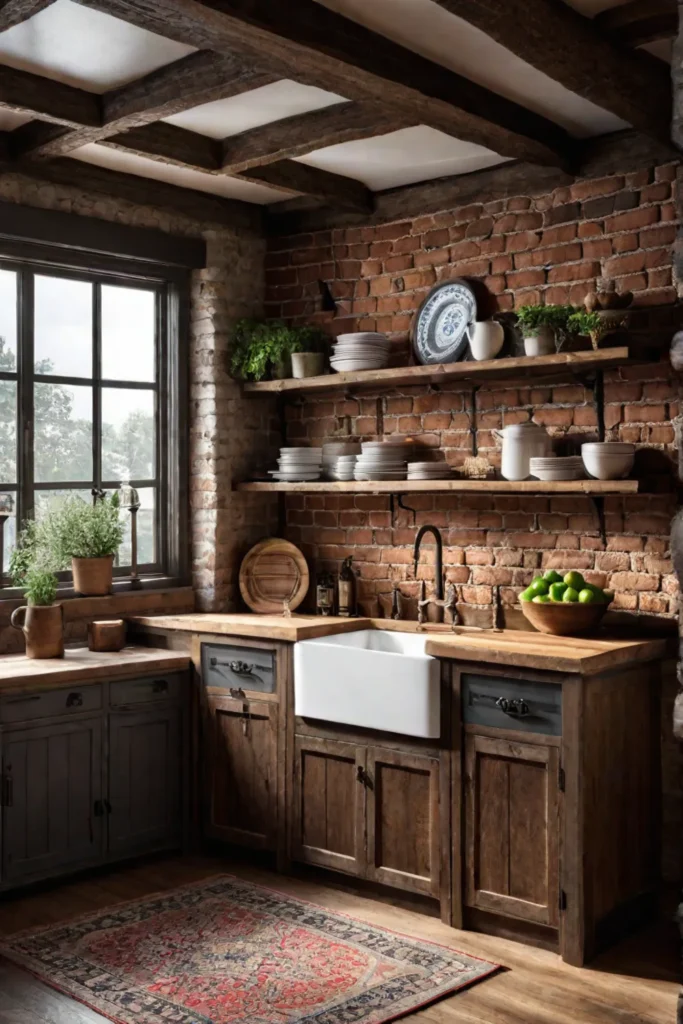
[[[92,479],[92,388],[72,384],[35,385],[35,477]]]

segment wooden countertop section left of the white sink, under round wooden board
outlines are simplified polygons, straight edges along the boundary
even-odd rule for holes
[[[372,618],[341,618],[323,615],[257,615],[189,612],[184,615],[131,615],[127,622],[136,626],[187,633],[217,633],[227,636],[256,637],[263,640],[314,640],[335,633],[369,630]]]

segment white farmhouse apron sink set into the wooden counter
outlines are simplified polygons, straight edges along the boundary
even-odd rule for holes
[[[426,636],[358,630],[294,645],[294,710],[302,718],[405,736],[440,735],[440,671]]]

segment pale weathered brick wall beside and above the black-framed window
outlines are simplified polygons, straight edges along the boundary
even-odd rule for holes
[[[116,221],[206,239],[208,263],[193,275],[190,302],[193,584],[201,609],[233,610],[242,555],[276,526],[275,503],[254,501],[231,489],[233,476],[243,476],[250,460],[267,456],[275,441],[270,404],[244,402],[227,374],[232,323],[239,316],[258,315],[263,307],[265,243],[260,230],[217,227],[157,208],[152,205],[154,183],[151,205],[141,206],[26,175],[1,174],[0,199],[100,217],[103,231],[105,221]]]

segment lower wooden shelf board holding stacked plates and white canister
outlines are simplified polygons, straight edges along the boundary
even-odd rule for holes
[[[315,480],[281,483],[254,480],[237,483],[236,490],[249,494],[306,495],[636,495],[638,480]]]

